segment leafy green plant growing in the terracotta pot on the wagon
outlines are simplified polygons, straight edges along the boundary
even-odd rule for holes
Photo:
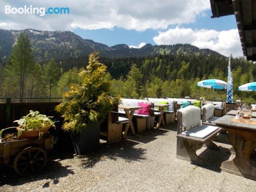
[[[38,111],[34,112],[30,110],[28,115],[24,116],[19,120],[14,121],[20,125],[19,126],[20,129],[17,132],[17,137],[19,138],[20,135],[22,135],[22,130],[24,130],[25,132],[28,132],[29,130],[33,130],[33,131],[39,131],[38,139],[40,139],[43,136],[41,129],[45,129],[46,127],[50,127],[50,126],[53,126],[55,128],[55,124],[53,120],[51,120],[50,118],[52,117],[47,117],[46,115],[40,114]],[[4,130],[0,131],[0,136],[2,136],[2,133]]]

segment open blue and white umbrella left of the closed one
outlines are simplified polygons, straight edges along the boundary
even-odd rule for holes
[[[212,98],[214,98],[214,89],[227,89],[228,88],[228,84],[225,81],[219,80],[219,79],[202,80],[197,83],[197,86],[202,87],[202,88],[212,89],[211,100],[212,100]]]

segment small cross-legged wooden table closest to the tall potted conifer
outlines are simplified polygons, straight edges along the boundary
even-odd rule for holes
[[[126,123],[126,125],[125,125],[124,134],[123,134],[122,138],[124,139],[126,137],[126,134],[129,130],[129,128],[131,128],[132,134],[135,135],[135,130],[134,130],[134,125],[133,125],[132,119],[133,119],[134,112],[138,109],[141,109],[142,106],[118,105],[118,108],[123,109],[126,117],[129,119],[129,123]]]

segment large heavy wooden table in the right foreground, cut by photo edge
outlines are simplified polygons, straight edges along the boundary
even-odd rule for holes
[[[221,170],[256,180],[256,168],[250,163],[250,154],[256,149],[256,124],[233,121],[234,116],[225,115],[214,123],[227,133],[227,141],[236,151],[233,160],[224,161]],[[255,118],[251,118],[256,121]]]

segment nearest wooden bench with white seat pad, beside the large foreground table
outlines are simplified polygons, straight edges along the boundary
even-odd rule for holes
[[[182,117],[182,113],[184,110],[190,110],[191,108],[198,107],[187,106],[186,108],[181,109],[179,112],[177,112],[178,129],[176,157],[194,164],[204,164],[202,159],[200,159],[200,157],[197,156],[197,150],[199,150],[203,146],[203,144],[205,144],[208,148],[219,150],[218,146],[212,142],[212,139],[215,138],[217,134],[221,132],[222,129],[217,126],[200,125],[200,109],[198,109],[199,111],[195,110],[193,112],[190,112],[200,113],[197,114],[199,115],[199,119],[196,120],[196,123],[193,125],[194,127],[183,126],[182,118],[186,117]]]

